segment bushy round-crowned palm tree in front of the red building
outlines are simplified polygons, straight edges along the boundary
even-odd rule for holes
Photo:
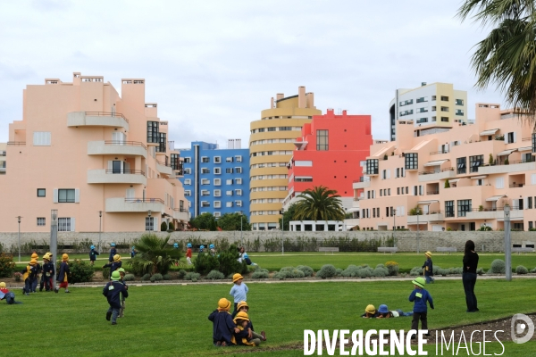
[[[344,208],[336,190],[324,186],[307,188],[297,198],[294,220],[344,220]]]

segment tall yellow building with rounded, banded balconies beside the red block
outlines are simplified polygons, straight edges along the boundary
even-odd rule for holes
[[[287,165],[301,128],[322,111],[314,107],[314,94],[298,87],[298,94],[278,94],[261,120],[252,121],[249,137],[250,222],[253,230],[278,228],[281,206],[288,195]]]

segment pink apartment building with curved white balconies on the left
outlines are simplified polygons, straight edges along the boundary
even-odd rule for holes
[[[9,125],[0,176],[0,231],[128,232],[183,228],[189,219],[180,153],[167,137],[144,79],[122,79],[121,96],[100,76],[73,74],[23,90],[22,120]],[[8,219],[11,217],[11,219]]]

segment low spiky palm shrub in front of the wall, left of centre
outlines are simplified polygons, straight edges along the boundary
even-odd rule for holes
[[[155,273],[166,274],[182,256],[179,249],[168,245],[170,236],[160,238],[155,233],[145,233],[138,238],[136,256],[129,261],[130,268],[138,275]]]

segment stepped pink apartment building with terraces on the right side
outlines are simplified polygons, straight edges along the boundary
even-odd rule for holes
[[[371,145],[353,184],[360,228],[500,229],[507,204],[512,228],[536,228],[536,134],[515,112],[476,104],[473,124],[417,130],[399,120],[395,141]]]

